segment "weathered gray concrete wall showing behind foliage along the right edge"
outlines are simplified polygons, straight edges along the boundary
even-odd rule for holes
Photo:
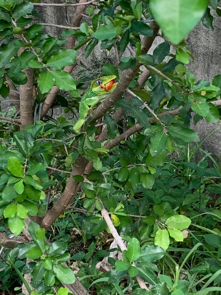
[[[188,65],[188,70],[194,73],[196,82],[205,79],[212,83],[212,78],[221,74],[221,18],[217,15],[214,15],[213,25],[214,31],[208,30],[203,25],[195,27],[187,38],[187,45],[194,56],[194,60],[191,60]],[[219,129],[204,142],[202,148],[215,155],[220,163],[221,122],[212,124],[202,120],[196,125],[192,124],[192,128],[198,133],[201,141],[215,129]]]

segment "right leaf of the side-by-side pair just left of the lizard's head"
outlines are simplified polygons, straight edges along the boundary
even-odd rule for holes
[[[69,73],[62,70],[55,70],[52,74],[55,78],[55,85],[60,90],[76,90],[74,78]]]

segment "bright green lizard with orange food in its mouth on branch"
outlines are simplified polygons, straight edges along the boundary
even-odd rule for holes
[[[114,81],[116,76],[103,76],[91,82],[90,88],[84,94],[79,105],[79,119],[75,123],[73,130],[79,133],[83,126],[85,119],[95,106],[103,99],[105,99],[117,86]]]

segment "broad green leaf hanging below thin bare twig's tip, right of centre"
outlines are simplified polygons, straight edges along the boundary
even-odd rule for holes
[[[160,152],[165,150],[166,142],[169,137],[165,132],[156,132],[150,139],[150,154],[152,156],[158,155]]]

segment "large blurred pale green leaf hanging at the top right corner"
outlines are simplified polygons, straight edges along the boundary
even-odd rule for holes
[[[207,5],[207,0],[150,0],[154,19],[174,44],[181,42],[193,29],[204,15]]]

